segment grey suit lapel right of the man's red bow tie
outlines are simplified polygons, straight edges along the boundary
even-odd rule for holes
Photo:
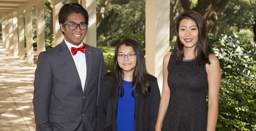
[[[84,43],[83,43],[84,44]],[[84,44],[85,45],[85,44]],[[84,84],[84,91],[88,85],[90,74],[91,74],[91,64],[93,63],[93,52],[90,51],[87,45],[85,45],[85,60],[86,60],[86,80]]]

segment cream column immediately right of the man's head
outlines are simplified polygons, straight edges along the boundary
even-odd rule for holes
[[[84,0],[85,1],[85,0]],[[87,43],[97,47],[97,27],[96,27],[96,0],[86,0],[85,9],[89,15],[89,25],[87,31]]]

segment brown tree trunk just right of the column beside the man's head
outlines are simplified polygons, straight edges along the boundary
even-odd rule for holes
[[[108,0],[101,0],[100,6],[98,7],[97,13],[96,13],[96,25],[97,28],[100,26],[101,21],[104,18],[104,12],[105,12],[105,7],[108,4]]]

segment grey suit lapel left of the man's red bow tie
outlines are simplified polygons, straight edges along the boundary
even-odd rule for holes
[[[74,76],[76,82],[79,84],[80,88],[82,89],[81,80],[80,80],[79,74],[77,72],[74,59],[73,59],[73,57],[68,49],[68,46],[66,45],[64,40],[62,41],[62,43],[60,43],[59,50],[60,50],[59,54],[60,54],[61,58],[67,64],[67,66],[70,69],[72,75]],[[82,89],[82,91],[83,91],[83,89]]]

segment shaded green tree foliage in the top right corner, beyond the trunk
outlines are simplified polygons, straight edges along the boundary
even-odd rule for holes
[[[230,0],[218,20],[218,33],[231,34],[241,29],[252,29],[255,12],[255,3],[250,0]]]

